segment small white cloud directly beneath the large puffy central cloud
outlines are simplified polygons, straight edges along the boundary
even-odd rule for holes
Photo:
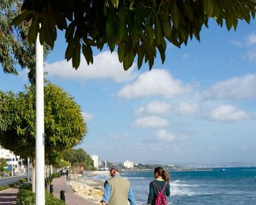
[[[135,110],[135,115],[161,115],[170,111],[170,104],[152,101],[146,106],[139,107],[139,109]]]

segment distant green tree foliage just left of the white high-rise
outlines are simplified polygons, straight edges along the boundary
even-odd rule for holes
[[[81,165],[86,170],[91,170],[94,166],[91,156],[89,156],[89,154],[87,154],[86,151],[81,148],[77,150],[69,149],[65,151],[65,153],[63,153],[63,159],[71,162],[71,165],[73,166]]]

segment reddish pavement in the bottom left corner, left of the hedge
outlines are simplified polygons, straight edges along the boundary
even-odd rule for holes
[[[18,194],[18,188],[10,188],[0,191],[0,204],[11,205],[16,204],[16,198]]]

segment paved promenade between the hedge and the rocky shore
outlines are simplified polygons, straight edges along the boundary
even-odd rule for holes
[[[49,191],[48,186],[48,191]],[[65,191],[65,203],[67,205],[95,205],[96,203],[87,200],[84,197],[80,197],[75,194],[71,186],[66,183],[66,177],[62,176],[53,179],[53,195],[56,198],[60,198],[60,191]]]

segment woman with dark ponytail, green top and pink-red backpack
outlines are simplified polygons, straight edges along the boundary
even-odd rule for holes
[[[168,172],[161,167],[157,167],[154,170],[154,176],[155,180],[151,181],[149,184],[149,198],[147,199],[147,204],[167,204],[166,197],[170,196],[170,177]],[[159,194],[159,192],[162,192],[162,194]],[[159,203],[159,200],[163,202]]]

